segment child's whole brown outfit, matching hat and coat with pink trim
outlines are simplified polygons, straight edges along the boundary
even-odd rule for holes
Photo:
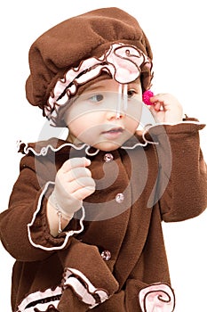
[[[151,61],[147,37],[129,14],[88,12],[32,45],[28,101],[60,126],[64,96],[103,73],[124,84],[123,70],[127,82],[140,77],[145,90]],[[207,206],[203,127],[195,119],[150,126],[111,152],[57,138],[20,144],[20,176],[0,215],[1,240],[16,259],[12,311],[173,311],[162,221],[194,218]],[[96,192],[53,237],[45,211],[57,170],[83,156],[92,161]]]

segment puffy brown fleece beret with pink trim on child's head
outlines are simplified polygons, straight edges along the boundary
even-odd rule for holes
[[[55,124],[66,95],[75,95],[78,86],[103,71],[120,83],[140,76],[146,90],[151,61],[147,37],[130,14],[118,8],[86,12],[49,29],[30,47],[28,102],[43,109]],[[126,70],[129,77],[124,79]]]

